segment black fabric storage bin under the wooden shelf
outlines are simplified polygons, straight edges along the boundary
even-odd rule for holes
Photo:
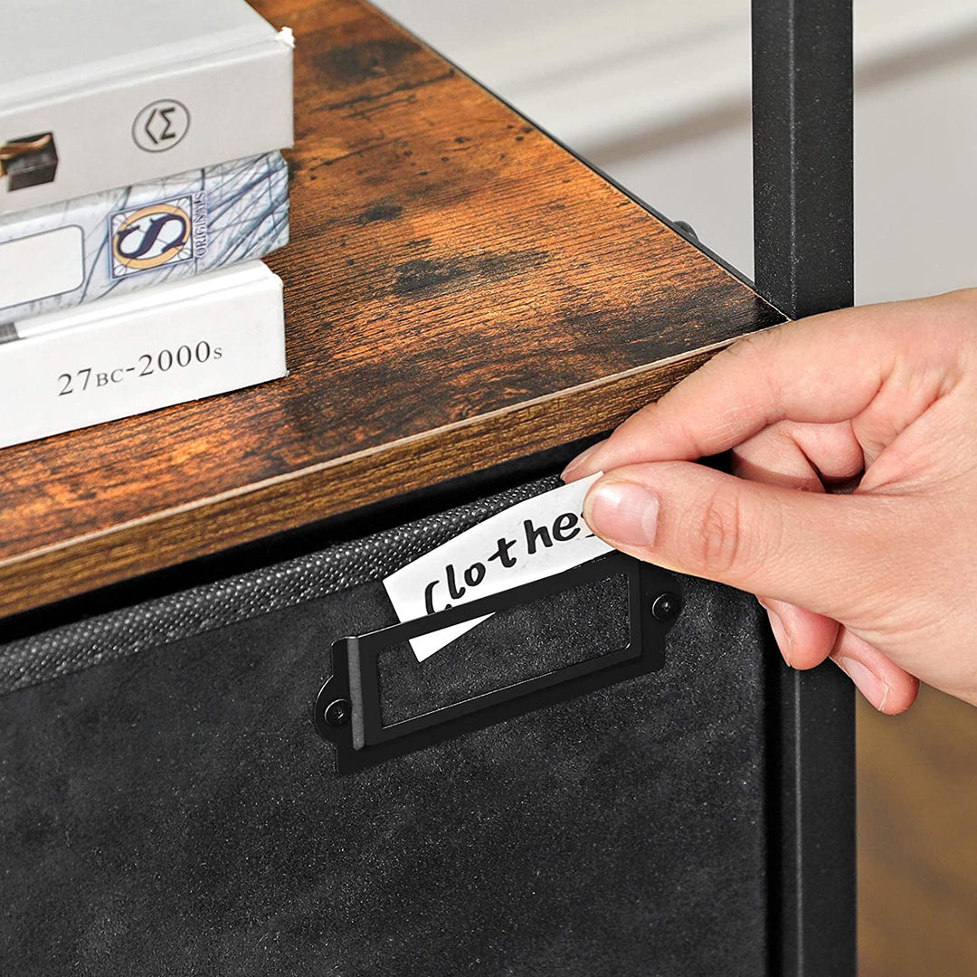
[[[767,972],[751,597],[683,578],[658,672],[357,774],[315,729],[382,576],[555,484],[0,647],[3,973]],[[602,603],[472,640],[573,649]]]

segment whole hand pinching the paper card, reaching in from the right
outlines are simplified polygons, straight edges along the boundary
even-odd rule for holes
[[[977,704],[977,289],[743,339],[564,479],[598,471],[591,530],[759,595],[788,664],[882,712],[919,680]]]

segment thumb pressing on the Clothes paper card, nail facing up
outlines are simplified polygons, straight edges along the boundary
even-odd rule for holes
[[[590,529],[616,549],[851,620],[891,553],[897,497],[746,482],[692,462],[627,465],[587,492]]]

